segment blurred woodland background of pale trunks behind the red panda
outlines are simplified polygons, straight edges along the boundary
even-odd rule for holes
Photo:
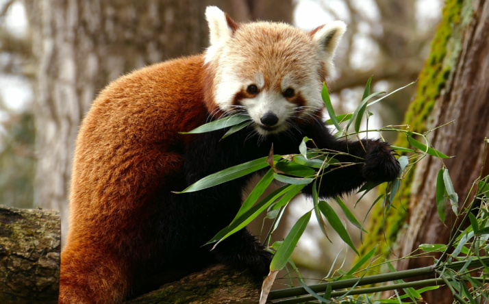
[[[25,101],[20,102],[18,94],[2,93],[9,83],[1,82],[0,78],[0,96],[5,99],[0,116],[3,126],[0,157],[5,160],[14,155],[24,157],[18,161],[21,166],[12,167],[10,172],[25,181],[23,188],[14,186],[13,175],[7,175],[8,167],[2,166],[0,191],[5,193],[2,198],[12,197],[12,204],[21,207],[61,210],[66,233],[74,140],[92,99],[108,82],[124,73],[203,51],[208,43],[203,18],[206,5],[218,5],[236,21],[285,21],[305,30],[336,19],[345,21],[349,29],[338,51],[337,72],[330,87],[337,112],[346,113],[360,101],[371,75],[375,90],[392,90],[416,79],[440,16],[440,2],[2,0],[1,73],[6,79],[20,77],[23,82],[18,85],[19,90],[34,92],[24,93]],[[12,26],[23,28],[23,32],[15,34]],[[400,123],[413,91],[410,88],[376,105],[371,110],[379,113],[373,116],[375,124]],[[31,119],[30,128],[22,119],[14,119],[20,114]],[[27,149],[22,153],[19,149],[3,148],[8,147],[8,138],[14,138],[14,129],[31,138],[29,144],[22,145]],[[21,143],[16,139],[10,142]],[[17,199],[21,194],[25,196],[22,202]],[[10,203],[8,199],[6,202]],[[301,203],[296,205],[292,208],[300,210]],[[297,213],[301,214],[288,215],[293,217]],[[357,210],[359,218],[364,213],[362,208]],[[331,244],[324,240],[314,222],[311,226],[295,257],[301,266],[319,270],[311,273],[312,277],[322,277],[337,251],[331,251]],[[340,240],[334,242],[342,244]]]

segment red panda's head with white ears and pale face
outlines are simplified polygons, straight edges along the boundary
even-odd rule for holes
[[[346,25],[334,21],[308,33],[286,23],[236,23],[210,6],[205,11],[212,71],[212,102],[224,114],[244,113],[264,136],[321,114],[323,81]]]

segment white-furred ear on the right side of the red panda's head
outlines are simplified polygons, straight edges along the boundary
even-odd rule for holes
[[[312,34],[312,39],[317,43],[318,48],[321,51],[325,51],[327,59],[331,60],[334,57],[336,47],[340,42],[344,31],[347,30],[347,25],[343,21],[333,21],[323,27],[314,29]],[[325,58],[326,59],[326,58]]]

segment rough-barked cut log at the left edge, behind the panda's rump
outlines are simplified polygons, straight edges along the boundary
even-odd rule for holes
[[[0,303],[58,303],[60,212],[0,206],[0,223]]]

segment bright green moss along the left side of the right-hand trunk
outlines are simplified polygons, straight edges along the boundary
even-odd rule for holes
[[[471,3],[471,0],[445,1],[442,19],[431,42],[429,58],[419,75],[416,95],[403,122],[418,133],[429,129],[430,115],[436,99],[442,90],[447,89],[447,81],[455,73],[457,58],[462,50],[461,29],[470,21],[473,14]],[[410,144],[405,136],[399,134],[394,145],[408,148]],[[400,203],[396,203],[395,209],[390,208],[388,213],[384,214],[384,207],[380,203],[374,208],[369,233],[360,248],[360,256],[367,253],[375,244],[379,244],[376,254],[387,258],[391,253],[390,249],[396,247],[397,240],[402,237],[399,233],[403,231],[405,219],[409,214],[413,179],[414,169],[410,170],[401,184]]]

